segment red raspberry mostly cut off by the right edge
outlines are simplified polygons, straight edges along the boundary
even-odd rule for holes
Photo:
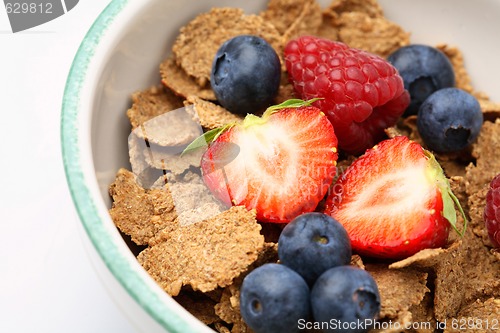
[[[490,183],[483,218],[491,243],[500,248],[500,174]]]

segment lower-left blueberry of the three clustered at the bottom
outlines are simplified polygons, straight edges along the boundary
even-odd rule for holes
[[[264,264],[243,280],[241,316],[255,333],[298,332],[299,320],[309,319],[309,293],[304,279],[290,268]]]

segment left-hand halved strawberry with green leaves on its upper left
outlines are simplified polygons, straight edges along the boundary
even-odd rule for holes
[[[266,222],[315,210],[335,176],[337,137],[312,102],[289,100],[209,133],[201,169],[212,193]]]

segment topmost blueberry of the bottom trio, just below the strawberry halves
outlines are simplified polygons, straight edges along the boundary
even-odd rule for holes
[[[278,240],[280,262],[309,285],[329,268],[351,261],[351,242],[342,224],[329,215],[306,213],[288,223]]]

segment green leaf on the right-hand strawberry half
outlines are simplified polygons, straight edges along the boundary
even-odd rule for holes
[[[439,162],[436,160],[433,154],[424,150],[426,156],[429,158],[430,170],[432,170],[433,179],[436,180],[437,186],[441,191],[441,197],[443,199],[443,217],[450,222],[452,228],[459,234],[461,237],[465,234],[465,230],[467,228],[467,217],[465,216],[464,210],[460,205],[458,198],[453,194],[453,191],[450,187],[450,182],[444,175],[444,171],[439,165]],[[457,214],[455,210],[455,206],[457,206],[460,214],[464,219],[464,223],[461,227],[461,230],[457,227]]]

